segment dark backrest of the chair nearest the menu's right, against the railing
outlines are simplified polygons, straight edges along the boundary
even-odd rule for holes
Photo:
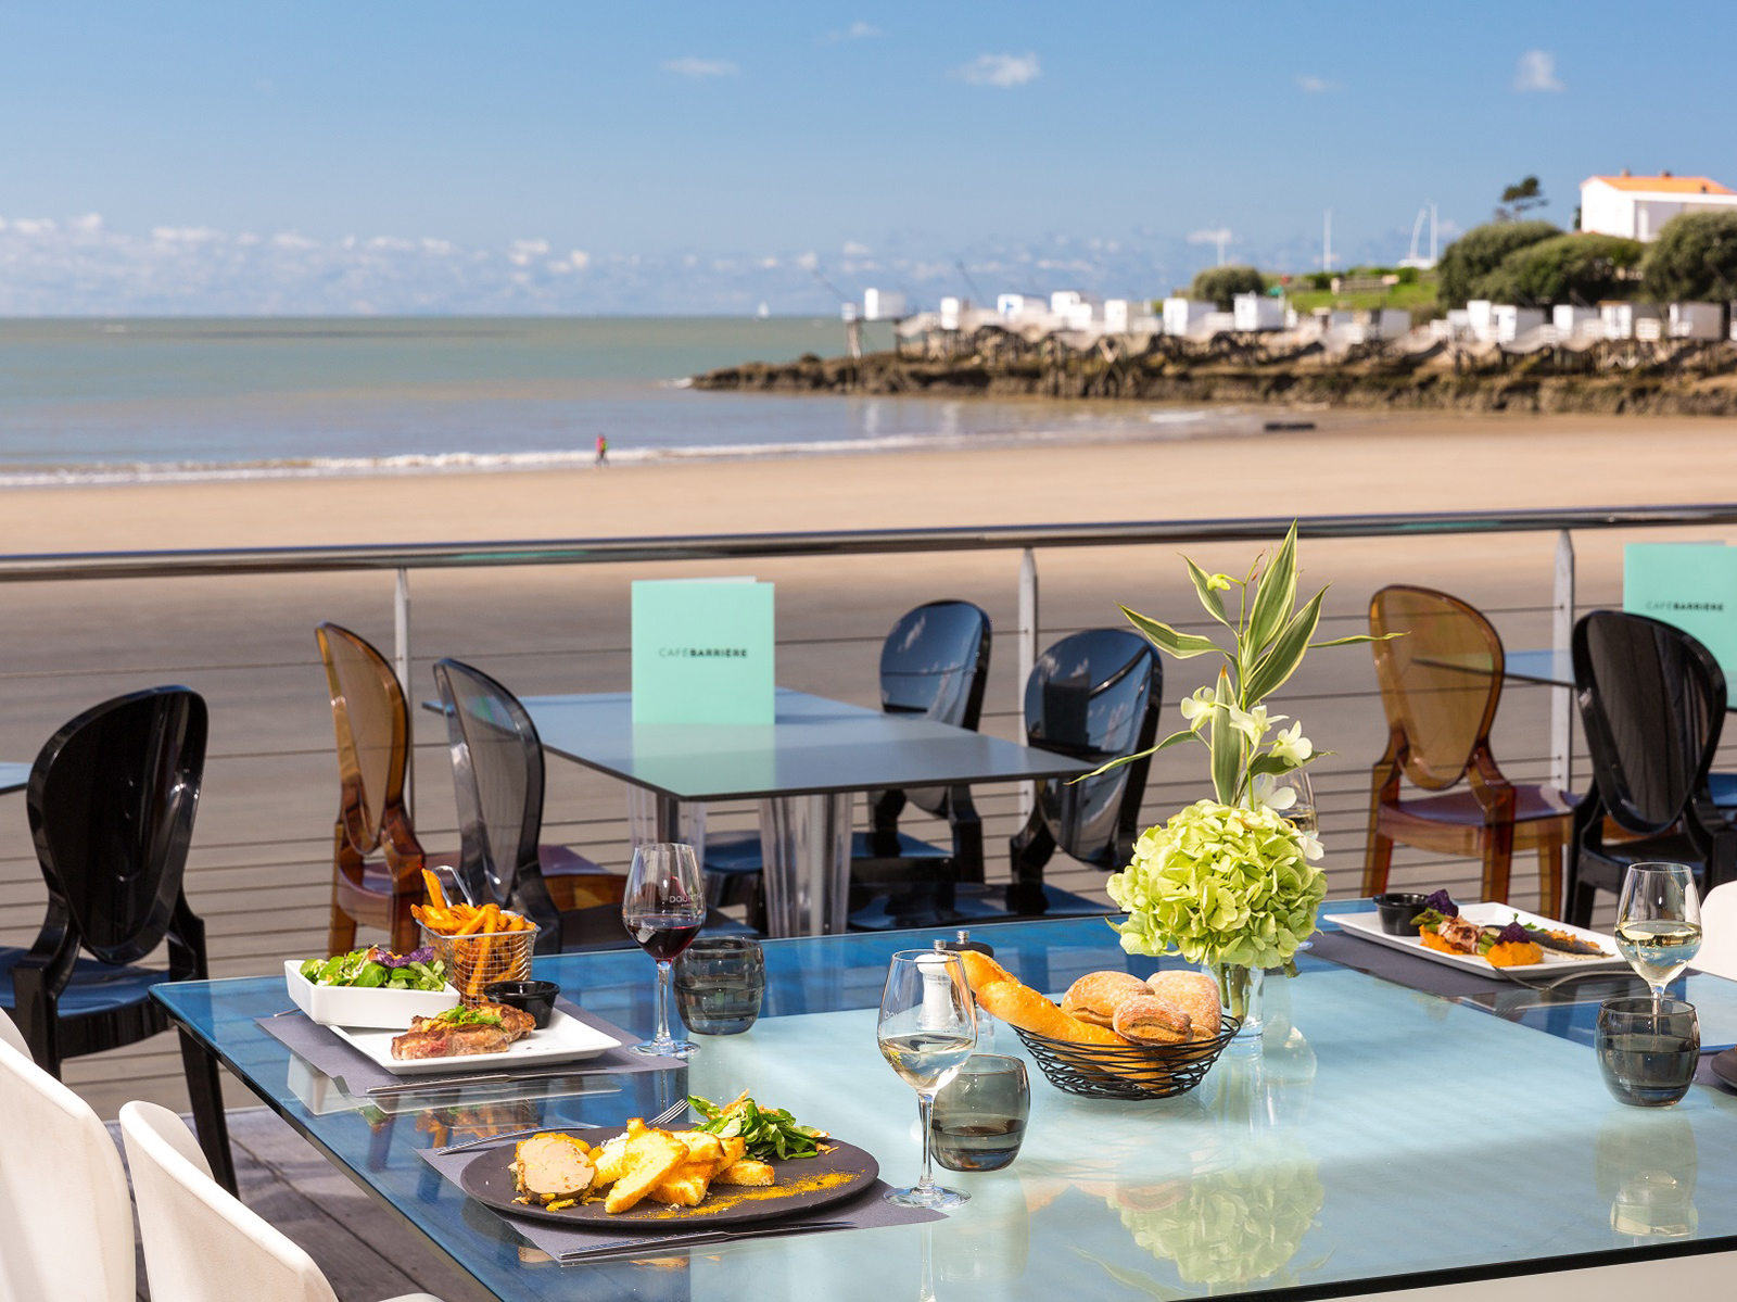
[[[881,643],[881,709],[976,730],[988,634],[988,615],[971,601],[926,601],[907,610]]]

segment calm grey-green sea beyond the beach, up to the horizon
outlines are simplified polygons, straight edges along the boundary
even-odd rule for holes
[[[891,330],[868,325],[868,348]],[[832,318],[0,320],[0,485],[533,469],[1254,433],[1139,403],[742,395],[844,353]]]

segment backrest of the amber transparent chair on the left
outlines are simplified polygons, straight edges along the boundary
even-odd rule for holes
[[[365,855],[380,843],[386,810],[403,803],[410,711],[393,666],[365,638],[337,624],[314,636],[332,690],[344,834]]]

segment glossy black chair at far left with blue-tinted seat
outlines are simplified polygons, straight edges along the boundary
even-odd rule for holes
[[[0,1008],[36,1064],[134,1045],[170,1022],[151,987],[208,973],[182,876],[205,772],[205,701],[153,687],[87,709],[42,747],[26,810],[49,911],[30,951],[0,949]],[[168,967],[141,967],[168,942]],[[234,1189],[217,1062],[186,1034],[200,1146]]]

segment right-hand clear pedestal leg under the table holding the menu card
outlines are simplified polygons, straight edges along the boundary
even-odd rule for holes
[[[835,935],[851,890],[853,793],[761,801],[766,925],[773,935]]]

